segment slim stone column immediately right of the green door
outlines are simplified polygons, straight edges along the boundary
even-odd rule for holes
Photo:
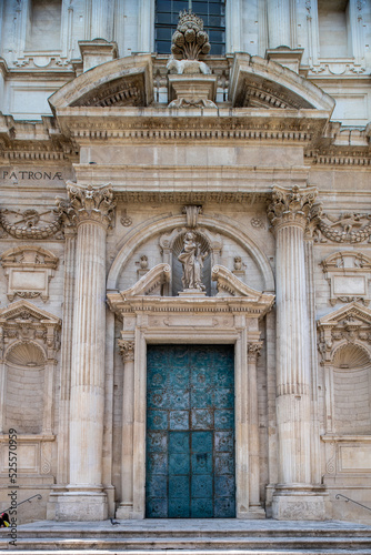
[[[259,464],[259,413],[258,413],[258,380],[257,361],[262,342],[248,343],[249,375],[249,512],[264,512],[260,505],[260,464]]]

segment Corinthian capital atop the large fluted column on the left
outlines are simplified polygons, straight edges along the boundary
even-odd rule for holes
[[[116,201],[110,184],[83,186],[68,181],[67,192],[70,214],[77,224],[84,221],[94,221],[107,228],[111,224]]]

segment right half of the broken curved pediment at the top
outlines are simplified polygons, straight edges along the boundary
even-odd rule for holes
[[[335,101],[294,71],[258,56],[238,53],[230,78],[233,108],[325,110]]]

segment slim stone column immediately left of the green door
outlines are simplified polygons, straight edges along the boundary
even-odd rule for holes
[[[117,518],[130,518],[133,511],[134,341],[119,340],[124,364],[122,391],[121,503]]]

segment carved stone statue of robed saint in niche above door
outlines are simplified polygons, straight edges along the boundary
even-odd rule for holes
[[[201,245],[195,242],[194,233],[191,231],[187,232],[183,250],[178,256],[178,260],[183,265],[183,289],[199,289],[200,291],[204,291],[205,286],[202,283],[202,268],[207,256],[208,252],[201,253]]]

